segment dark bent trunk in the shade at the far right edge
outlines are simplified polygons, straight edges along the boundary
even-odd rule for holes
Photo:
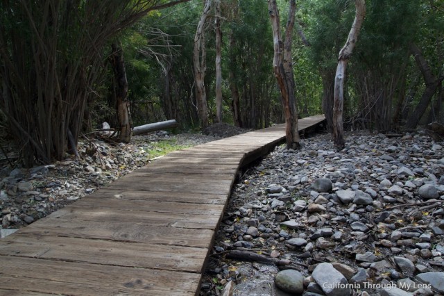
[[[413,113],[411,113],[411,115],[407,118],[406,127],[408,129],[415,129],[422,115],[424,115],[425,110],[427,110],[430,101],[432,101],[432,97],[434,96],[438,85],[443,82],[444,75],[438,78],[434,76],[432,69],[430,69],[429,65],[427,64],[427,60],[425,60],[424,56],[422,56],[422,52],[416,46],[416,44],[411,44],[410,49],[425,82],[425,90],[422,93],[422,97],[415,110],[413,110]]]

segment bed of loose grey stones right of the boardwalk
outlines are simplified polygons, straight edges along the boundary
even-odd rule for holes
[[[443,142],[348,133],[336,151],[330,138],[242,176],[200,295],[444,295]]]

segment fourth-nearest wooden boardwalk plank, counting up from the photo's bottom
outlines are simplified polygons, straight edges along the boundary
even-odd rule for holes
[[[87,208],[71,204],[65,208],[46,216],[46,220],[51,220],[57,224],[58,220],[67,220],[72,223],[80,221],[94,221],[105,223],[135,223],[146,224],[155,227],[178,227],[187,229],[216,229],[219,222],[219,215],[205,214],[180,214],[180,213],[157,213],[144,211],[120,211],[114,208]]]

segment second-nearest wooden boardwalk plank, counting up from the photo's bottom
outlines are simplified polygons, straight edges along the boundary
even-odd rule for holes
[[[5,256],[197,273],[202,272],[207,252],[208,249],[197,247],[33,236],[23,233],[0,240],[0,255]]]

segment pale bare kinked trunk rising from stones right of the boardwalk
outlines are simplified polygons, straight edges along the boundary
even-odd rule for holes
[[[355,0],[356,13],[352,28],[348,34],[347,42],[339,51],[339,62],[336,68],[334,78],[334,104],[333,104],[333,135],[334,145],[340,149],[345,147],[344,129],[343,129],[343,105],[344,105],[344,79],[345,69],[347,68],[348,58],[355,48],[359,31],[361,30],[364,17],[366,16],[366,1]]]

